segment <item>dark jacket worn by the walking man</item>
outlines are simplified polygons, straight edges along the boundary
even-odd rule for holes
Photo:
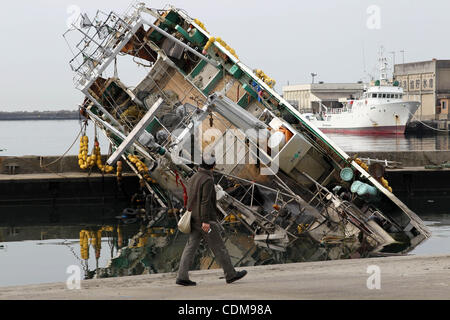
[[[187,207],[192,211],[192,227],[198,229],[202,223],[217,221],[216,190],[212,171],[199,168],[189,179]]]

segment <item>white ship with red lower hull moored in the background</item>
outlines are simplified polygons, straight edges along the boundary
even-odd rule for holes
[[[380,80],[359,99],[347,100],[342,108],[321,105],[319,113],[305,116],[325,133],[403,134],[420,102],[403,100],[398,82],[387,81],[386,59],[380,61]]]

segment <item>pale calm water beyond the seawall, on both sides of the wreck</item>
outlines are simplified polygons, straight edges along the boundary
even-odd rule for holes
[[[55,121],[0,121],[0,149],[5,156],[62,155],[72,144],[80,131],[77,120]],[[94,127],[88,126],[91,141]],[[356,136],[328,134],[344,151],[406,151],[406,150],[450,150],[450,136]],[[99,132],[100,146],[108,150],[109,143]],[[78,144],[70,150],[70,155],[78,154]]]

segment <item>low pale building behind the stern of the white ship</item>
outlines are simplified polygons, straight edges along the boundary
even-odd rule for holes
[[[311,83],[283,87],[283,97],[300,112],[318,112],[320,105],[327,108],[342,106],[342,101],[359,97],[364,84],[359,83]]]

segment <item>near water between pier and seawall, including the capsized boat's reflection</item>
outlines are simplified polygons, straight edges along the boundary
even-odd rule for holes
[[[449,215],[423,215],[425,223],[433,231],[433,237],[425,245],[414,249],[412,254],[445,254],[450,250],[450,220]],[[229,221],[235,227],[234,221]],[[152,274],[177,271],[181,252],[187,236],[171,234],[171,228],[148,230],[141,219],[129,217],[111,221],[108,225],[65,225],[58,226],[23,226],[0,227],[0,258],[2,271],[7,279],[0,277],[0,286],[26,285],[31,283],[64,282],[68,275],[66,268],[70,264],[79,265],[85,279],[98,277],[116,277],[127,275]],[[226,245],[235,265],[261,265],[271,263],[289,263],[329,259],[326,244],[321,253],[313,250],[311,256],[303,256],[301,250],[289,249],[286,254],[276,254],[276,251],[257,247],[251,239],[238,236],[234,227],[225,228]],[[98,247],[99,230],[101,247]],[[147,231],[147,232],[146,232]],[[82,259],[84,248],[80,247],[80,234],[92,235],[88,243],[88,256]],[[83,236],[82,236],[83,238]],[[165,245],[170,244],[169,246]],[[298,245],[308,246],[307,243]],[[246,246],[249,253],[244,259],[236,254],[236,246]],[[43,247],[47,247],[44,250]],[[61,247],[57,249],[56,247]],[[25,253],[25,248],[27,248]],[[216,268],[217,264],[206,248],[202,247],[195,258],[195,269]],[[239,250],[238,250],[239,251]],[[101,255],[98,255],[101,252]],[[21,260],[18,254],[23,254],[26,261],[35,261],[39,270],[29,268],[21,272]],[[315,254],[315,256],[313,256]],[[87,258],[87,259],[86,259]],[[8,259],[8,260],[5,260]],[[241,260],[241,261],[240,261]],[[56,269],[55,269],[56,268]],[[60,270],[59,270],[60,269]]]

